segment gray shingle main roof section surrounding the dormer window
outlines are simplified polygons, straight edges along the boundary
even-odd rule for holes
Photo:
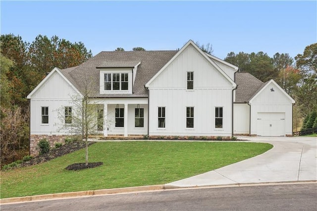
[[[177,53],[177,51],[101,52],[79,66],[61,70],[61,73],[81,92],[85,79],[93,81],[93,97],[148,97],[144,85]],[[100,94],[100,69],[97,67],[131,67],[139,64],[133,94]]]

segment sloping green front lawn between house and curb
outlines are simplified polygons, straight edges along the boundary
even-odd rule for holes
[[[271,148],[240,142],[99,142],[89,147],[89,162],[104,162],[96,168],[64,169],[85,161],[82,149],[42,164],[1,171],[0,198],[165,184]]]

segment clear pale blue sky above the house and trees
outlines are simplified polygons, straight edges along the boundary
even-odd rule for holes
[[[3,1],[1,34],[83,42],[93,54],[122,47],[176,50],[189,39],[213,55],[303,53],[317,42],[317,1]]]

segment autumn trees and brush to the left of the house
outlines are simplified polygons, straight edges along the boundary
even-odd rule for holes
[[[29,153],[27,95],[54,67],[77,66],[92,57],[81,42],[38,35],[32,43],[13,34],[0,37],[1,165]]]

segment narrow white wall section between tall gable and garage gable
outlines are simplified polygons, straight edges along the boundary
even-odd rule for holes
[[[233,104],[233,134],[249,134],[250,106],[248,104]]]

